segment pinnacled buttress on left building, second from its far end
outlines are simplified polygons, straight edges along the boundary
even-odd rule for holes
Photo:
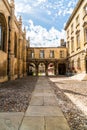
[[[23,45],[23,37],[22,37],[22,18],[20,16],[19,18],[19,50],[18,50],[18,77],[21,78],[23,76],[23,73],[22,73],[22,61],[23,61],[23,58],[22,58],[22,45]]]

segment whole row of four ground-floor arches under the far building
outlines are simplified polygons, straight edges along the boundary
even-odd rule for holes
[[[27,63],[28,75],[57,76],[66,74],[66,64],[58,61],[32,60]]]

